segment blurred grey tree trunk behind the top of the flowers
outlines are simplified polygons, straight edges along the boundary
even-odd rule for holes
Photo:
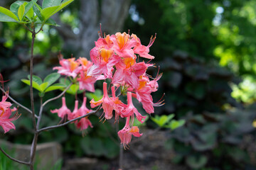
[[[102,32],[113,34],[121,32],[127,18],[130,0],[80,0],[79,33],[75,34],[70,26],[54,17],[58,32],[64,40],[63,50],[72,52],[75,57],[90,57],[102,23]]]

